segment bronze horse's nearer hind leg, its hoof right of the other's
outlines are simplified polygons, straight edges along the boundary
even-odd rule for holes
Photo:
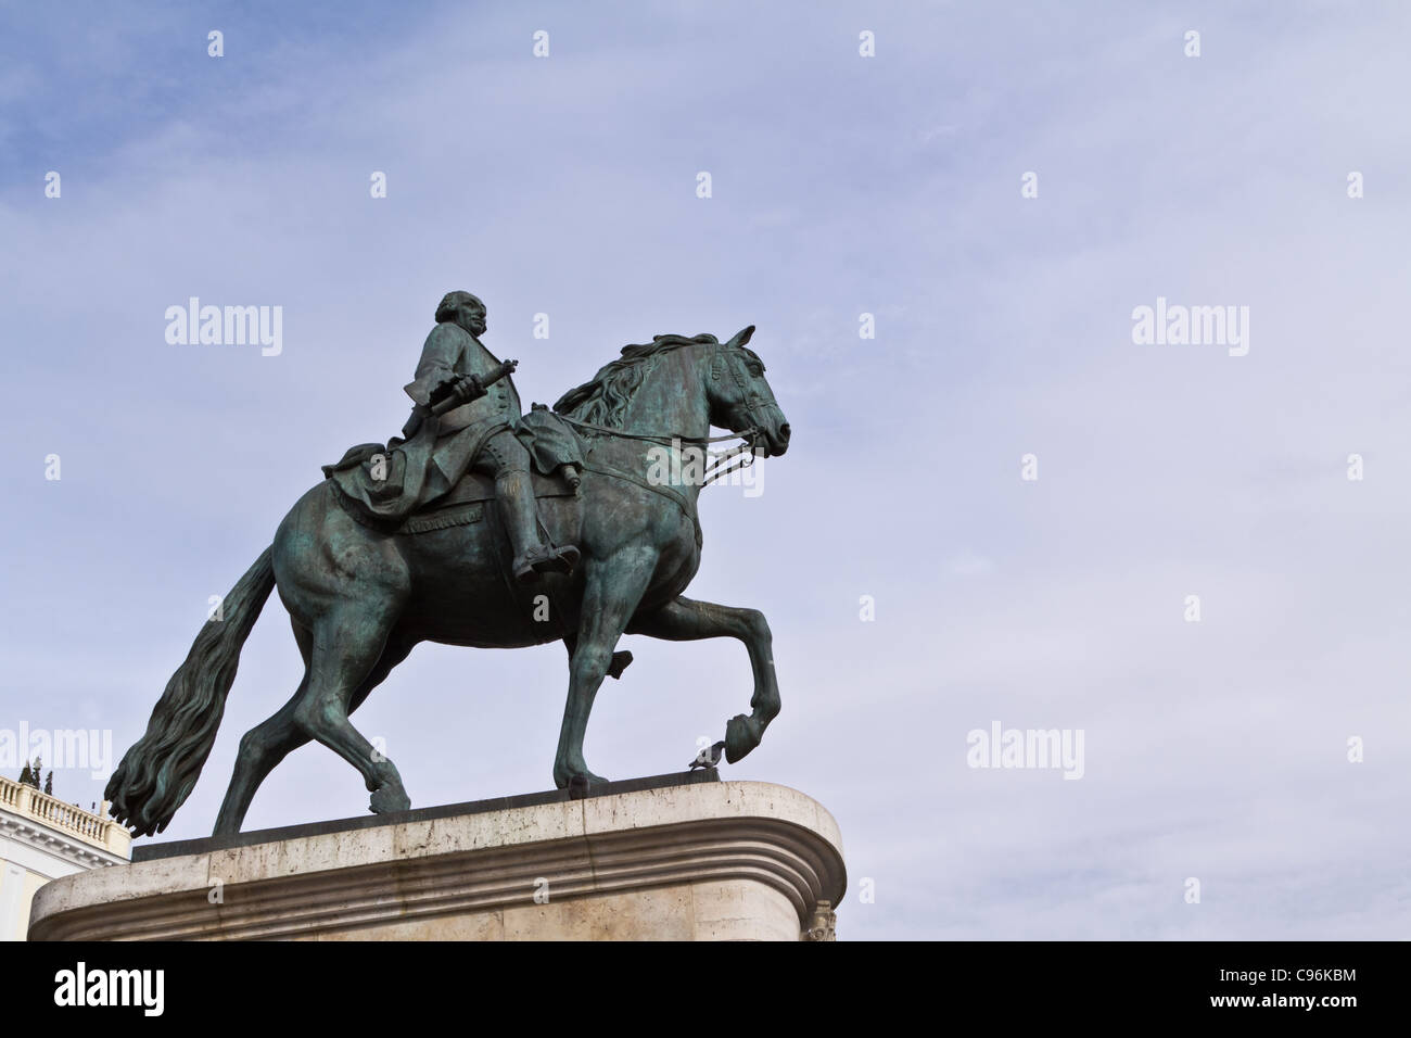
[[[363,774],[371,809],[382,815],[412,806],[396,765],[353,727],[353,696],[382,657],[385,627],[375,614],[344,609],[320,619],[313,630],[309,684],[293,706],[293,723],[308,737],[337,753]]]

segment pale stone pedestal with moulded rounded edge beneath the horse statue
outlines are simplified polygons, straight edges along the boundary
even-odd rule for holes
[[[138,846],[30,939],[827,941],[845,888],[820,804],[703,771]]]

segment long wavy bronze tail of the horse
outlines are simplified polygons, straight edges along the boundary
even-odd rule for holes
[[[123,754],[103,797],[111,815],[137,836],[161,832],[172,821],[216,744],[226,696],[236,681],[240,648],[274,589],[270,548],[255,559],[206,621],[157,700],[147,733]]]

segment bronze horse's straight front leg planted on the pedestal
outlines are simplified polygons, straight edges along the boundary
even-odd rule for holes
[[[612,650],[636,612],[656,571],[656,549],[634,547],[622,548],[601,561],[588,559],[584,565],[581,620],[569,660],[569,700],[563,708],[559,751],[553,758],[553,784],[560,789],[574,780],[588,784],[607,781],[588,771],[583,760],[583,739],[588,730],[593,699],[614,665]]]

